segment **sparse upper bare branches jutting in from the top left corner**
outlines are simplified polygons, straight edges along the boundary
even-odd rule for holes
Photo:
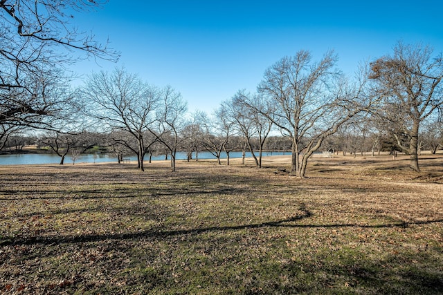
[[[107,1],[1,0],[0,88],[22,88],[35,72],[70,64],[85,53],[116,60],[118,53],[73,25],[75,14]]]

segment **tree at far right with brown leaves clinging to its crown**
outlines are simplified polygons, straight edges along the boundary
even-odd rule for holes
[[[433,57],[428,46],[399,42],[393,55],[372,62],[371,70],[370,78],[383,97],[377,113],[390,125],[400,149],[410,155],[410,168],[420,171],[420,125],[443,106],[443,55]]]

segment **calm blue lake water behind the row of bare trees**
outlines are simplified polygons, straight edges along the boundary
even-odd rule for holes
[[[290,155],[290,152],[266,152],[263,153],[266,155]],[[255,155],[258,155],[257,153]],[[246,153],[246,158],[251,158],[251,153]],[[137,157],[125,157],[125,159],[129,158],[132,161],[136,162]],[[195,159],[195,153],[192,155],[192,158]],[[242,152],[230,152],[230,158],[242,158]],[[170,159],[168,157],[168,159]],[[199,153],[199,159],[216,159],[215,156],[207,151]],[[226,159],[226,153],[221,153],[221,159]],[[145,155],[145,161],[149,160],[149,155]],[[152,156],[152,160],[165,160],[165,155],[155,155]],[[186,153],[178,152],[177,160],[186,160]],[[80,157],[75,160],[75,163],[98,163],[98,162],[117,162],[117,158],[113,154],[84,154],[80,155]],[[16,165],[16,164],[58,164],[60,163],[60,157],[54,154],[13,154],[13,155],[0,155],[0,165]],[[64,164],[72,164],[72,158],[67,155],[64,159]]]

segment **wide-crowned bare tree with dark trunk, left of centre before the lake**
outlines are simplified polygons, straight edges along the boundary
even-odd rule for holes
[[[156,121],[161,95],[159,90],[141,81],[123,68],[112,73],[94,73],[80,90],[88,101],[88,113],[111,130],[127,131],[137,142],[138,168],[144,171],[145,134]],[[129,147],[129,146],[128,146]]]

